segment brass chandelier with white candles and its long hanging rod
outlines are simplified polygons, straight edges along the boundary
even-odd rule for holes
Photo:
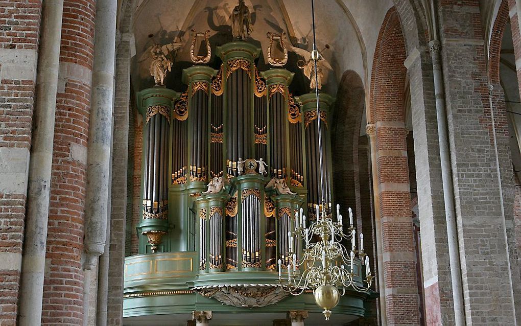
[[[312,22],[313,22],[313,51],[311,58],[315,66],[315,81],[318,84],[318,61],[321,54],[317,50],[316,32],[315,32],[315,3],[311,0],[312,6]],[[317,100],[317,116],[320,116],[319,90],[315,88]],[[332,214],[326,211],[326,203],[324,202],[324,170],[321,129],[318,124],[318,140],[320,155],[320,184],[321,184],[321,205],[316,205],[316,221],[309,227],[306,227],[306,216],[303,210],[295,213],[295,229],[288,232],[289,251],[287,257],[290,258],[288,263],[288,277],[282,277],[282,261],[278,260],[279,267],[279,284],[293,295],[300,295],[306,289],[314,290],[315,301],[319,307],[324,309],[322,313],[329,320],[331,309],[338,305],[340,296],[346,293],[346,289],[354,289],[357,292],[367,292],[373,283],[374,276],[371,275],[369,267],[369,257],[364,252],[364,235],[359,234],[360,248],[356,249],[356,230],[353,226],[353,213],[349,208],[350,225],[347,233],[344,233],[344,225],[342,215],[340,214],[340,205],[337,204],[337,221],[333,222]],[[303,249],[303,257],[299,260],[296,257],[295,245],[305,242]],[[315,240],[316,239],[316,240]],[[313,242],[312,242],[313,241]],[[351,243],[348,249],[342,243]],[[356,258],[358,255],[358,258]],[[365,265],[365,279],[363,282],[356,282],[355,276],[358,271],[355,270],[355,261],[359,259],[362,265]],[[365,283],[365,285],[364,285]],[[341,291],[339,291],[339,289]]]

